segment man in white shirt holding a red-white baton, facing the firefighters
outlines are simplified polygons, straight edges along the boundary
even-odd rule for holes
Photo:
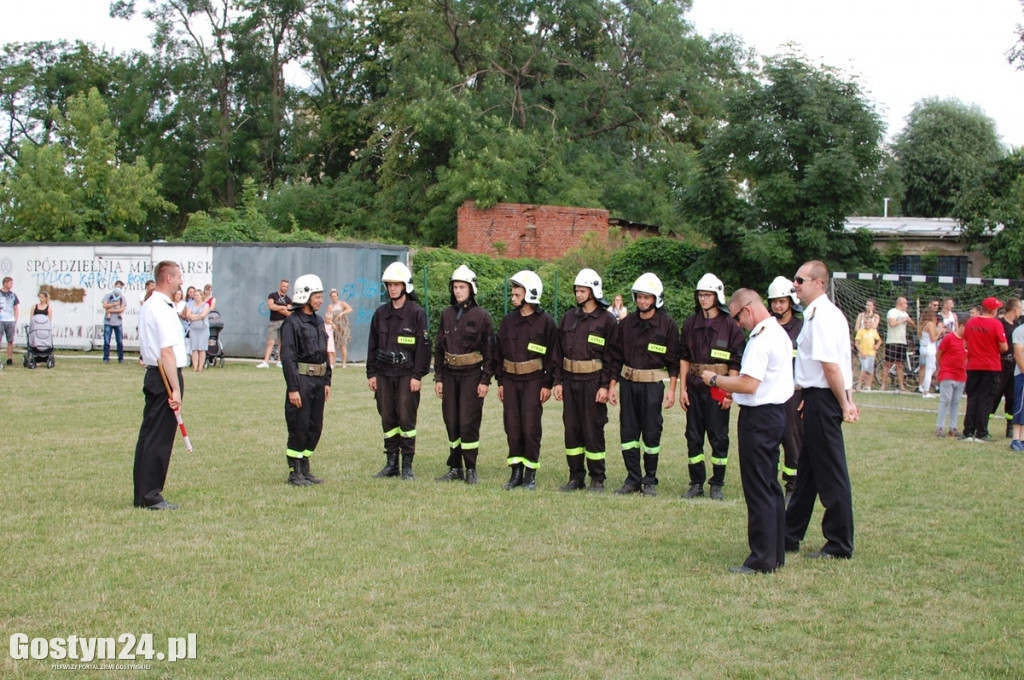
[[[145,407],[135,444],[135,507],[177,510],[178,506],[164,500],[162,492],[177,429],[174,412],[181,408],[184,390],[181,368],[186,360],[185,336],[171,302],[174,291],[181,287],[181,267],[165,260],[157,265],[155,274],[156,288],[138,316],[139,358],[145,365],[142,381]]]

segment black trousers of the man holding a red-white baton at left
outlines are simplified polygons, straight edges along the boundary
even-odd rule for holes
[[[184,396],[185,383],[178,369],[178,385]],[[162,493],[171,465],[171,449],[178,421],[167,405],[167,389],[157,368],[146,369],[142,379],[142,425],[138,428],[135,444],[135,466],[132,477],[135,483],[135,507],[147,508],[164,500]]]

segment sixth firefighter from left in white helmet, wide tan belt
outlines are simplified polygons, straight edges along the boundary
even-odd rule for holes
[[[657,495],[657,460],[665,422],[662,410],[676,402],[679,379],[679,327],[662,309],[664,293],[657,277],[641,274],[633,284],[636,311],[615,327],[608,401],[614,406],[622,400],[618,432],[626,464],[626,481],[615,490],[616,494],[642,491],[644,496]],[[618,384],[621,395],[615,390]]]

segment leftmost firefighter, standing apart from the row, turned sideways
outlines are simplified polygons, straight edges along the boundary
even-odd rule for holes
[[[307,273],[295,280],[292,313],[281,327],[281,365],[288,398],[288,483],[296,486],[324,480],[309,470],[324,430],[324,405],[331,397],[331,365],[327,360],[327,332],[316,313],[324,304],[324,284]]]

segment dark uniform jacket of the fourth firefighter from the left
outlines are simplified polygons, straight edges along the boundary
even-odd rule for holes
[[[499,385],[505,380],[534,380],[538,372],[512,375],[505,373],[505,359],[528,362],[539,358],[543,365],[544,386],[554,385],[555,343],[558,342],[555,320],[540,307],[532,314],[523,316],[518,309],[502,320],[498,342],[492,357],[492,374]]]

